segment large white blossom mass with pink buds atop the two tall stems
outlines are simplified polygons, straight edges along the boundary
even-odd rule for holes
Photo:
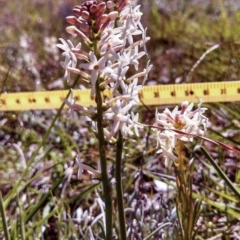
[[[127,0],[86,1],[76,6],[73,12],[77,17],[67,17],[68,23],[72,24],[67,27],[67,32],[79,37],[89,52],[82,50],[81,43],[74,47],[70,40],[60,39],[62,44],[58,47],[64,50],[65,57],[61,63],[66,70],[64,78],[69,79],[70,73],[81,75],[90,84],[92,97],[96,95],[96,86],[102,92],[112,90],[112,98],[103,97],[107,141],[113,141],[119,130],[124,137],[132,135],[132,130],[138,134],[138,115],[134,115],[131,108],[139,101],[138,91],[152,67],[148,63],[138,72],[139,59],[147,54],[145,43],[149,40],[140,22],[140,6],[131,6]],[[129,69],[135,72],[131,76]],[[141,84],[138,84],[139,79]],[[92,107],[87,110],[73,100],[65,102],[70,108],[84,110],[87,114],[91,112],[90,117],[96,118],[97,112],[94,113]],[[94,121],[93,127],[96,130]]]

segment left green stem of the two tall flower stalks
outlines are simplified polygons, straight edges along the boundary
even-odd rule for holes
[[[97,129],[98,129],[98,142],[99,142],[99,155],[102,174],[103,194],[105,199],[106,209],[106,240],[112,240],[112,194],[111,185],[107,173],[107,158],[106,158],[106,143],[103,132],[103,107],[102,95],[99,88],[99,79],[96,82],[96,98],[97,98]]]

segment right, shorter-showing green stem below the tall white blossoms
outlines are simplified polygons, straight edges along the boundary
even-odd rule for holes
[[[116,192],[117,192],[117,206],[120,228],[120,239],[126,240],[126,224],[123,204],[122,191],[122,151],[123,151],[123,137],[121,131],[118,132],[117,149],[116,149]]]

